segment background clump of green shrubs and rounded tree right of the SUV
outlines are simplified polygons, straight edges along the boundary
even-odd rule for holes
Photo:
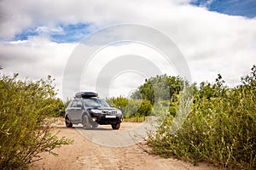
[[[147,116],[155,113],[152,111],[153,105],[160,101],[163,102],[161,105],[168,108],[170,106],[169,111],[175,115],[175,108],[170,105],[169,100],[175,101],[176,94],[179,94],[186,83],[180,77],[151,77],[131,95],[131,99],[120,96],[108,99],[108,103],[119,107],[124,114],[124,121],[129,122],[145,121]]]

